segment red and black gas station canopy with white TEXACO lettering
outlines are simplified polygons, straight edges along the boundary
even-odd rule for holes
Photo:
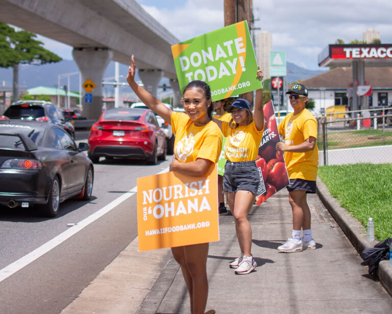
[[[352,66],[355,60],[365,66],[392,66],[392,43],[329,44],[318,55],[318,66]]]

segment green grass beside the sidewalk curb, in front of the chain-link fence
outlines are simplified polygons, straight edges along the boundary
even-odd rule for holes
[[[392,238],[392,164],[322,166],[318,176],[365,229],[373,217],[377,240]]]

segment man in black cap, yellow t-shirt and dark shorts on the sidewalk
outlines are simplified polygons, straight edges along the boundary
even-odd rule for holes
[[[278,142],[276,150],[284,152],[290,184],[288,199],[292,210],[292,234],[278,247],[285,253],[314,250],[316,243],[310,228],[310,210],[306,193],[316,192],[318,165],[317,121],[305,104],[308,90],[303,84],[294,84],[287,91],[294,112],[279,124],[278,130],[285,142]],[[301,229],[303,237],[301,237]]]

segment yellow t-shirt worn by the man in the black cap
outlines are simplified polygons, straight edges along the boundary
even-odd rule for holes
[[[298,115],[287,115],[278,126],[279,133],[288,146],[299,145],[309,137],[317,139],[317,121],[308,109]],[[313,150],[306,152],[284,152],[287,172],[290,179],[316,181],[318,169],[317,143]]]

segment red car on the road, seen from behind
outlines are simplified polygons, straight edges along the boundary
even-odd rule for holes
[[[91,127],[88,156],[93,163],[100,157],[145,159],[155,165],[166,159],[166,137],[152,110],[111,108]]]

